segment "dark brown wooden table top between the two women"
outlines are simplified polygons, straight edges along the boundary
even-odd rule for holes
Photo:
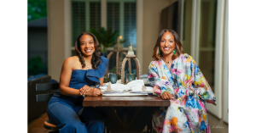
[[[161,97],[148,96],[87,96],[84,98],[83,106],[101,106],[101,107],[169,107],[169,100],[162,100]]]

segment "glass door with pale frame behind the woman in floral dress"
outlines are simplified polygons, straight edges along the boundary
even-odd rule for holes
[[[190,55],[205,75],[217,99],[216,104],[207,104],[207,111],[219,119],[222,119],[223,106],[224,2],[224,0],[193,0],[190,3],[192,4]]]

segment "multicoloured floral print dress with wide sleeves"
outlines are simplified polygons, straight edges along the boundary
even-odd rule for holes
[[[157,132],[211,132],[207,119],[207,103],[216,98],[206,78],[189,54],[181,54],[172,61],[171,70],[162,59],[152,61],[148,67],[148,80],[154,86],[154,94],[162,96],[169,91],[170,107],[160,108],[153,115],[153,127]]]

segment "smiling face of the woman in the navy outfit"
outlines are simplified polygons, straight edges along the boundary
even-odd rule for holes
[[[90,35],[83,35],[80,38],[80,49],[83,56],[92,56],[95,51],[93,37]]]

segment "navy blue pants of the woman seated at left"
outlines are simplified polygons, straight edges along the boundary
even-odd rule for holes
[[[48,105],[47,114],[57,124],[60,133],[102,133],[104,130],[105,119],[93,107],[55,102]]]

